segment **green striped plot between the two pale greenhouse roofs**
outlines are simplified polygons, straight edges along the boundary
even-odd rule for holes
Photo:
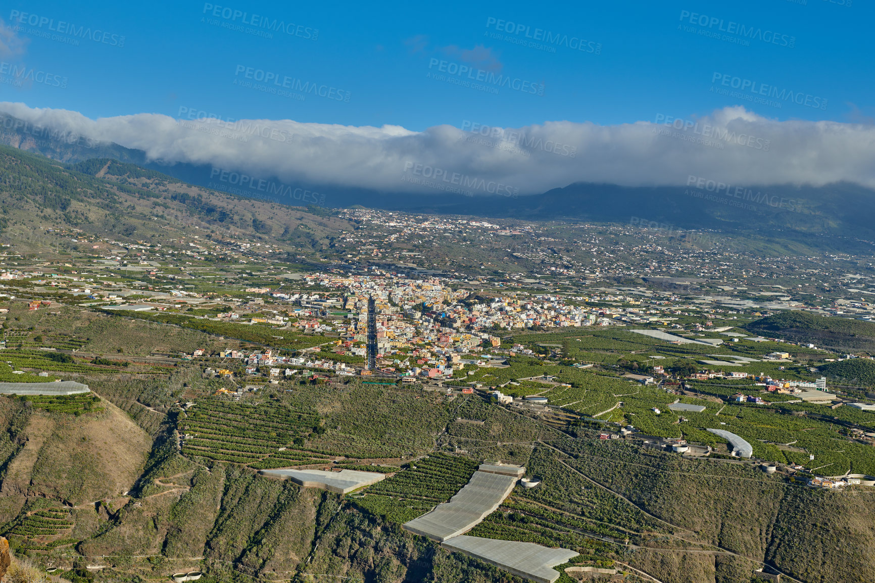
[[[406,469],[365,489],[354,501],[388,521],[406,523],[448,501],[468,483],[477,466],[473,460],[434,453],[410,462]]]

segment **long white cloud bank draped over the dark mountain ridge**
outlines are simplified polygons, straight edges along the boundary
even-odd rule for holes
[[[435,192],[403,179],[415,175],[416,165],[423,165],[420,173],[429,172],[426,166],[438,168],[448,179],[456,172],[467,179],[514,186],[521,194],[582,181],[684,185],[690,175],[735,185],[823,186],[847,180],[875,187],[872,125],[778,122],[740,107],[718,109],[697,119],[696,125],[691,120],[675,122],[674,127],[653,122],[546,122],[516,130],[479,130],[465,123],[465,130],[478,133],[449,125],[415,132],[395,125],[291,120],[242,121],[220,128],[216,120],[179,123],[158,114],[92,120],[74,111],[10,102],[0,103],[0,110],[30,123],[143,150],[151,159],[390,192]],[[269,128],[268,137],[258,137],[253,128]],[[276,139],[292,134],[290,142]]]

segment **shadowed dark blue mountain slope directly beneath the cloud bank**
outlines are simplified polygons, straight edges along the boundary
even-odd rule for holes
[[[8,116],[7,116],[8,117]],[[150,160],[144,151],[118,144],[96,144],[84,139],[43,131],[38,137],[22,130],[25,124],[11,118],[0,132],[0,143],[48,158],[83,163],[95,158],[112,158],[148,167],[186,183],[247,192],[216,179],[210,165]],[[84,168],[84,166],[82,166]],[[81,169],[82,169],[81,168]],[[246,168],[239,172],[257,174],[275,186],[283,180],[262,176]],[[628,222],[634,216],[643,221],[665,223],[670,228],[722,229],[804,243],[809,248],[872,250],[875,229],[867,217],[875,214],[875,192],[853,184],[823,187],[743,185],[718,190],[716,182],[690,177],[690,186],[628,187],[611,184],[577,183],[546,193],[507,198],[467,197],[461,194],[396,193],[348,186],[311,184],[298,180],[295,186],[319,193],[329,207],[384,208],[432,214],[473,214],[522,220],[580,220]],[[742,185],[739,185],[742,186]],[[251,192],[251,191],[249,191]],[[275,198],[285,204],[305,204],[293,198]],[[320,202],[319,204],[323,204]],[[638,224],[638,223],[635,223]],[[853,235],[849,235],[849,234]],[[829,235],[823,237],[821,235]]]

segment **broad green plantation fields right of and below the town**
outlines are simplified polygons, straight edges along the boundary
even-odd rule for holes
[[[507,383],[501,390],[509,394],[541,395],[547,397],[550,404],[576,411],[584,417],[633,425],[645,435],[683,437],[696,443],[719,446],[725,440],[706,430],[725,429],[750,442],[754,457],[762,460],[794,462],[826,475],[842,475],[849,470],[858,474],[875,472],[872,446],[865,446],[846,434],[848,424],[870,431],[875,429],[875,414],[870,411],[847,406],[830,409],[820,404],[787,403],[794,399],[764,393],[751,381],[695,381],[690,383],[690,389],[699,397],[681,396],[611,373],[537,365],[535,362],[534,359],[514,358],[506,369],[477,369],[468,378],[494,386]],[[528,392],[526,389],[515,390],[514,385],[509,384],[513,379],[535,376],[533,371],[555,376],[555,383],[570,386],[544,385],[542,390]],[[728,404],[729,397],[738,392],[761,395],[771,403]],[[701,413],[669,411],[668,405],[677,400],[704,405],[706,409]],[[657,415],[654,408],[659,409],[660,414]],[[814,460],[810,460],[811,454],[815,456]]]

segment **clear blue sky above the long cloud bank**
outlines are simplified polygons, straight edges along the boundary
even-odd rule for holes
[[[26,30],[16,33],[23,43],[4,36],[2,60],[66,77],[66,88],[2,84],[0,101],[72,109],[91,118],[178,117],[179,109],[187,108],[223,118],[395,124],[409,130],[444,123],[461,127],[465,121],[507,127],[547,121],[613,125],[661,115],[701,116],[729,105],[781,121],[856,122],[875,115],[875,10],[868,2],[848,2],[217,0],[80,7],[12,0],[0,18],[7,28],[18,24]],[[250,22],[258,14],[268,25],[263,20],[262,26],[243,25],[244,12]],[[59,21],[74,27],[60,36],[79,40],[79,46],[40,38],[58,34],[50,28]],[[269,23],[275,21],[292,34],[271,32]],[[273,38],[222,25],[271,32]],[[98,30],[108,34],[99,41],[82,39],[84,32],[74,36],[79,27],[91,29],[92,37]],[[744,37],[740,28],[753,32]],[[527,33],[544,39],[527,39]],[[545,42],[548,33],[558,41]],[[123,46],[114,46],[122,36]],[[457,67],[469,72],[458,75]],[[326,95],[306,94],[301,100],[300,91],[276,95],[251,87],[262,74],[289,77],[289,94],[296,93],[297,79],[325,86]],[[481,87],[446,81],[476,85],[478,76]],[[733,93],[733,84],[741,94]],[[803,104],[753,102],[755,91],[793,92],[802,95],[797,99]]]

